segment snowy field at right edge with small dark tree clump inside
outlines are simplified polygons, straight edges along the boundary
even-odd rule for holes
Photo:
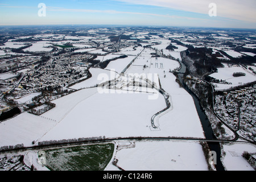
[[[249,83],[249,82],[256,81],[256,76],[254,76],[250,72],[246,71],[242,67],[234,67],[234,66],[233,67],[228,67],[227,64],[224,64],[224,65],[225,65],[224,68],[218,68],[217,73],[213,73],[209,76],[211,76],[213,78],[216,78],[218,80],[225,80],[225,81],[230,82],[232,84],[216,84],[216,83],[213,83],[216,90],[229,89],[232,86],[239,86],[239,85],[243,85],[243,84],[246,84],[246,83]],[[246,76],[233,77],[233,73],[236,73],[236,72],[245,73]]]

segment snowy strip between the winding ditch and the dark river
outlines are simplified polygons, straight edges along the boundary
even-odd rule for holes
[[[145,69],[143,69],[142,66],[144,64],[147,65]],[[131,67],[127,69],[126,74],[152,73],[152,81],[155,81],[154,75],[157,74],[162,88],[170,94],[173,109],[159,118],[159,128],[161,132],[168,129],[168,135],[172,137],[204,138],[203,128],[193,98],[187,91],[179,87],[175,81],[176,77],[169,72],[170,69],[172,71],[175,68],[179,68],[179,66],[179,63],[175,60],[163,57],[140,56],[134,61]],[[148,78],[150,79],[150,77]]]

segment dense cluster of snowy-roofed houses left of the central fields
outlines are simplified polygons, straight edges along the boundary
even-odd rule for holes
[[[56,90],[56,88],[67,87],[80,78],[88,75],[88,63],[81,60],[88,59],[88,55],[73,57],[52,57],[46,64],[37,69],[31,69],[20,81],[17,94],[39,90]]]

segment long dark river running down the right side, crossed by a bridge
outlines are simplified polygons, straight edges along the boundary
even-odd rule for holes
[[[191,94],[194,102],[195,102],[195,106],[196,106],[196,110],[197,110],[197,113],[199,115],[199,118],[200,118],[200,121],[202,123],[202,126],[203,126],[203,130],[204,130],[204,134],[205,134],[205,138],[206,139],[216,139],[216,136],[214,135],[213,133],[213,130],[212,130],[212,127],[210,126],[210,122],[208,120],[208,117],[207,115],[205,114],[204,110],[203,110],[203,107],[201,106],[200,104],[200,100],[199,98],[196,96],[195,93],[193,93],[187,85],[185,85],[184,81],[183,81],[183,75],[185,73],[185,70],[186,70],[186,66],[180,61],[180,64],[181,64],[181,68],[179,69],[179,80],[181,82],[181,84],[183,85],[183,88],[185,90],[187,90],[187,92],[189,94]],[[217,171],[224,171],[225,168],[222,166],[222,163],[221,163],[221,148],[220,148],[220,143],[218,142],[207,142],[208,143],[208,146],[210,148],[211,151],[215,151],[216,152],[216,155],[217,155],[217,161],[216,161],[216,169]]]

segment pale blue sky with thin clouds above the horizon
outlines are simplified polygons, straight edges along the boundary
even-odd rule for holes
[[[0,25],[256,28],[255,10],[256,0],[0,0]]]

